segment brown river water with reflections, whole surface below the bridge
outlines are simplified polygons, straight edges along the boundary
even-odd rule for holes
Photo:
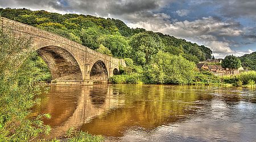
[[[256,90],[172,85],[50,86],[34,111],[53,137],[74,127],[106,141],[256,141]]]

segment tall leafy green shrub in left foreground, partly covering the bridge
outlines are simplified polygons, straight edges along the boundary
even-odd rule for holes
[[[28,141],[51,130],[43,125],[43,115],[28,119],[38,102],[35,95],[42,92],[40,81],[50,76],[42,60],[27,52],[30,39],[14,39],[11,33],[0,29],[0,141]]]

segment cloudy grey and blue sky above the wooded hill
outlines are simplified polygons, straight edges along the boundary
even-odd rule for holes
[[[0,0],[0,7],[120,19],[205,45],[216,58],[256,51],[255,0]]]

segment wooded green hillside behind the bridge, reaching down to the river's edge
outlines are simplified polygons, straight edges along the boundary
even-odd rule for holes
[[[212,59],[212,51],[204,45],[143,28],[129,28],[118,19],[10,8],[0,9],[0,13],[5,18],[67,37],[106,55],[125,59],[128,64],[130,61],[132,64],[120,70],[123,76],[119,76],[120,80],[123,77],[129,80],[131,77],[130,81],[126,81],[130,83],[188,84],[192,82],[195,64]],[[158,66],[159,62],[167,60],[170,61]],[[170,71],[175,73],[166,74]],[[162,76],[159,77],[159,73]],[[110,78],[110,81],[116,82],[115,78]]]

